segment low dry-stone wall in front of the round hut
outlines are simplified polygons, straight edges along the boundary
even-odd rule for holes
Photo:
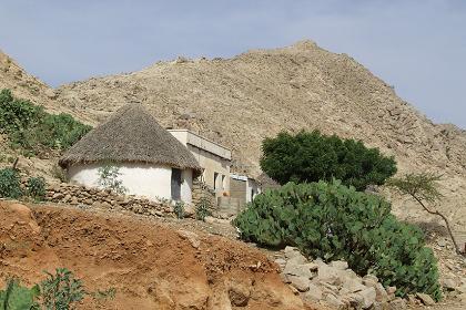
[[[134,196],[119,195],[110,189],[88,188],[62,183],[49,186],[47,200],[74,206],[90,206],[105,209],[125,209],[135,214],[174,217],[170,202],[152,202]]]

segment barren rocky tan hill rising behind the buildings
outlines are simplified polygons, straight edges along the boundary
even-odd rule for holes
[[[163,125],[189,127],[233,148],[235,169],[252,175],[261,141],[281,130],[361,138],[395,155],[402,172],[442,173],[442,207],[466,225],[466,133],[433,124],[352,58],[311,41],[225,60],[179,58],[71,83],[57,94],[60,106],[94,124],[128,102],[145,103]]]

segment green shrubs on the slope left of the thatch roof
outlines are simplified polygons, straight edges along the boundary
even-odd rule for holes
[[[9,90],[0,92],[0,133],[29,156],[47,149],[64,151],[91,128],[71,115],[49,114],[30,101],[14,99]]]

